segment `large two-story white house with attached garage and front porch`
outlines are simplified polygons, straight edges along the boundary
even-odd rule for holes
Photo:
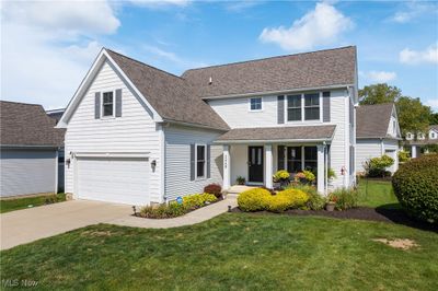
[[[148,205],[309,168],[355,183],[356,47],[193,69],[181,77],[102,49],[57,127],[66,191]]]

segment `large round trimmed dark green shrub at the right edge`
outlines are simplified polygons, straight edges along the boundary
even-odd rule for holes
[[[438,154],[403,164],[392,178],[401,206],[412,217],[438,223]]]

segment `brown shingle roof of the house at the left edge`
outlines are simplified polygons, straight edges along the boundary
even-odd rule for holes
[[[66,130],[55,125],[41,105],[0,101],[1,146],[62,147]]]

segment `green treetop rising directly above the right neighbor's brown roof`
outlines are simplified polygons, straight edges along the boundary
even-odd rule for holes
[[[396,102],[402,96],[402,91],[387,83],[373,84],[359,90],[359,104],[373,105]]]

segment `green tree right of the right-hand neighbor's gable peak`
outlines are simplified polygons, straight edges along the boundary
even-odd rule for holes
[[[419,98],[402,96],[395,104],[399,114],[399,124],[403,136],[406,132],[427,132],[431,110],[422,104]]]

